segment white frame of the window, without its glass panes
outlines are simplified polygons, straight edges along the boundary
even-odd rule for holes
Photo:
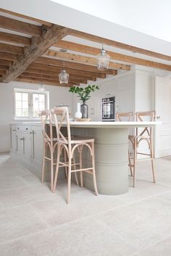
[[[28,117],[16,116],[16,97],[15,93],[27,93],[28,94]],[[14,120],[38,120],[38,117],[33,117],[33,94],[43,94],[45,96],[45,110],[49,109],[49,91],[38,91],[32,89],[14,88]]]

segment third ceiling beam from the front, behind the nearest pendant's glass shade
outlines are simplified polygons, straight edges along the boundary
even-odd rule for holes
[[[80,63],[88,64],[88,65],[96,65],[97,64],[96,58],[86,57],[86,56],[82,56],[82,55],[78,55],[78,54],[70,54],[68,52],[48,50],[43,55],[48,56],[48,57],[56,57],[56,58],[61,58],[61,59],[72,60],[74,62],[80,62]],[[121,69],[121,70],[130,70],[130,65],[119,64],[119,63],[114,63],[114,62],[109,62],[109,67],[115,68],[115,69]]]

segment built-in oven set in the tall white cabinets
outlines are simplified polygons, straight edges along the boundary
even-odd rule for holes
[[[102,99],[102,121],[114,122],[115,120],[115,97]]]

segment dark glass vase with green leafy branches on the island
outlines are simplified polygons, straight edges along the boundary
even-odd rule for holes
[[[88,118],[88,105],[86,101],[91,98],[90,94],[92,91],[99,90],[99,86],[87,86],[85,88],[72,86],[70,92],[78,94],[78,98],[83,102],[81,105],[82,118]]]

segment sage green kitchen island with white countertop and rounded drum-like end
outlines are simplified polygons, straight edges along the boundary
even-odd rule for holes
[[[70,123],[72,135],[89,136],[95,139],[96,181],[99,194],[124,194],[128,191],[129,128],[155,125],[157,122]],[[22,165],[40,177],[43,159],[41,123],[12,123],[10,127],[12,157],[19,161],[22,160]],[[24,149],[26,141],[27,149]],[[93,182],[88,173],[84,176],[84,186],[93,190]]]

